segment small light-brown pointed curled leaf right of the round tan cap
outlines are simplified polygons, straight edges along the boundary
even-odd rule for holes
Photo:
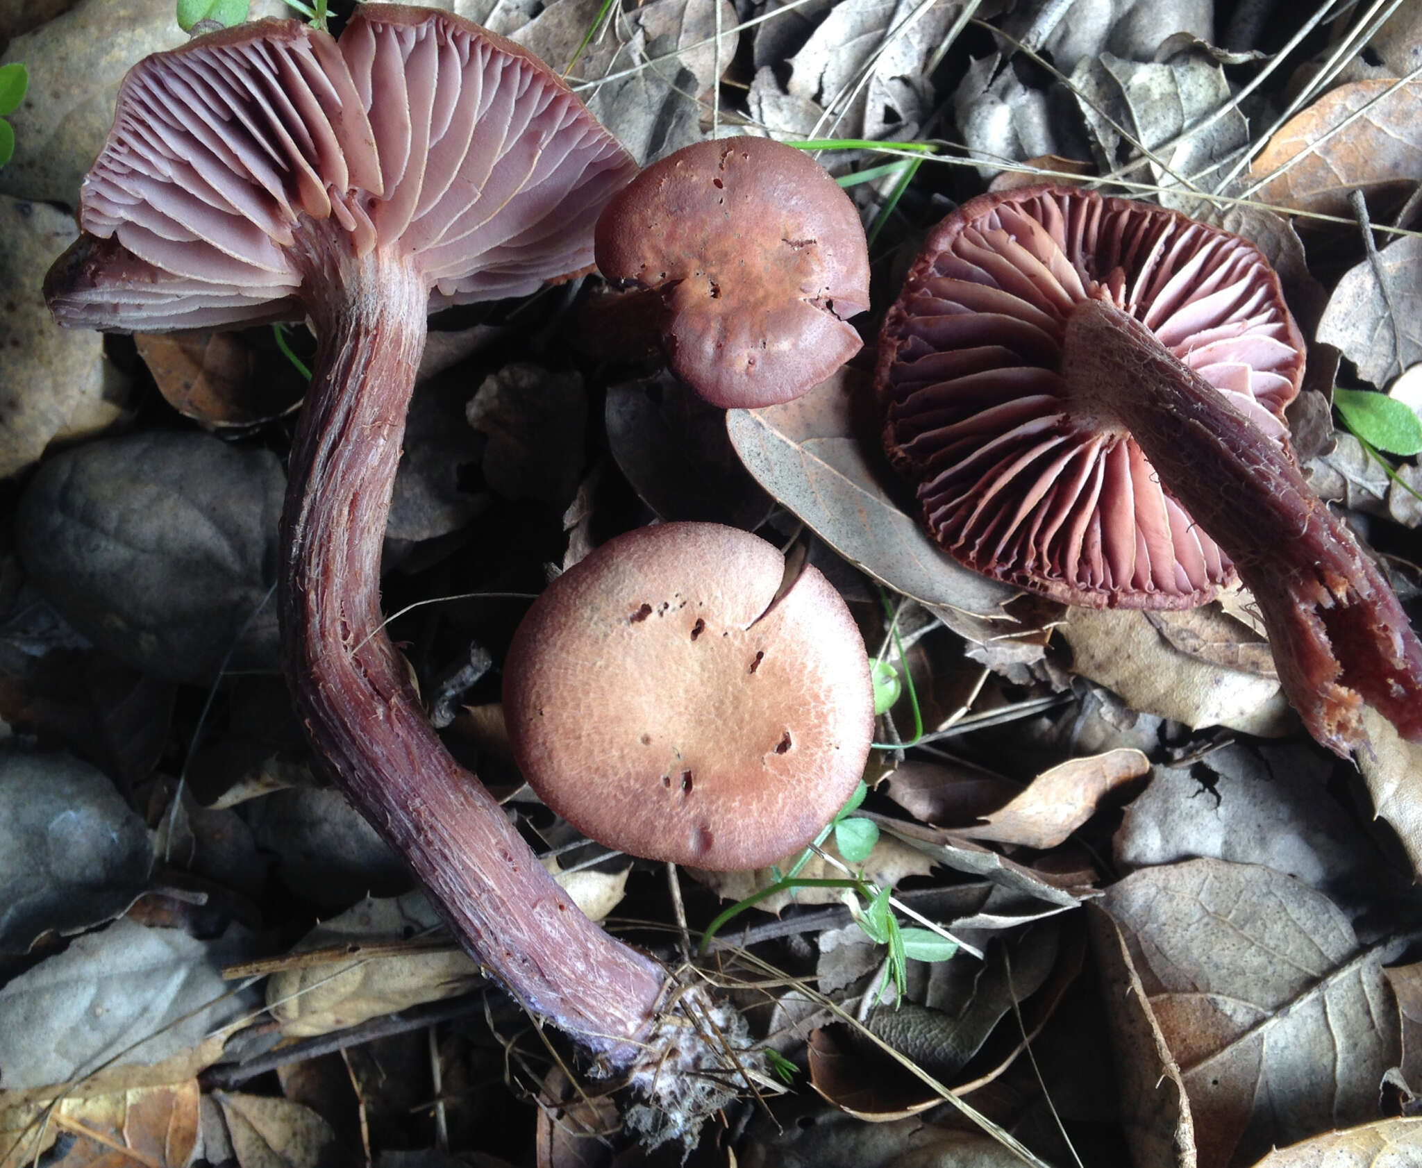
[[[1042,771],[1031,785],[981,825],[961,828],[973,839],[1055,848],[1096,814],[1096,804],[1123,782],[1150,770],[1139,750],[1112,750],[1091,758],[1069,758]]]

